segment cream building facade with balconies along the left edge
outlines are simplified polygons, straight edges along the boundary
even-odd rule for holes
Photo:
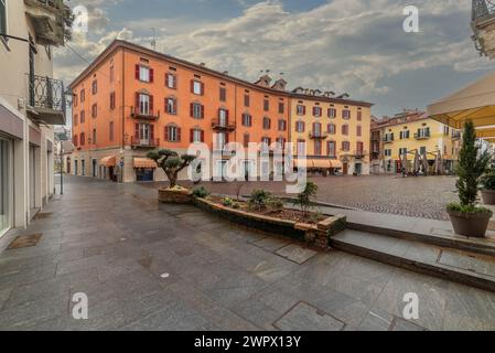
[[[64,44],[62,0],[0,1],[0,235],[25,227],[54,193],[54,125],[65,96],[52,47]]]

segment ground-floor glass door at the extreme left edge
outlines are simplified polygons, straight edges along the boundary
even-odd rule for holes
[[[0,236],[12,225],[12,142],[0,138]]]

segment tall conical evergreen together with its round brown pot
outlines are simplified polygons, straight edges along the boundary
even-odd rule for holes
[[[456,234],[484,237],[493,212],[476,204],[480,183],[489,163],[489,154],[482,152],[476,142],[472,121],[464,125],[463,143],[459,153],[456,189],[459,203],[448,206],[448,213]]]

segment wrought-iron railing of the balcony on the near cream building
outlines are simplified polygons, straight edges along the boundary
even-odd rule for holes
[[[30,106],[65,113],[64,83],[50,77],[29,75]]]

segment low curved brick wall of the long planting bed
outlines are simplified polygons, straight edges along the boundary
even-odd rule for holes
[[[306,224],[234,210],[204,199],[195,199],[194,202],[200,208],[230,222],[258,231],[290,237],[299,242],[305,242],[321,249],[327,249],[330,247],[330,237],[344,231],[347,226],[345,216],[332,216],[319,224]]]

